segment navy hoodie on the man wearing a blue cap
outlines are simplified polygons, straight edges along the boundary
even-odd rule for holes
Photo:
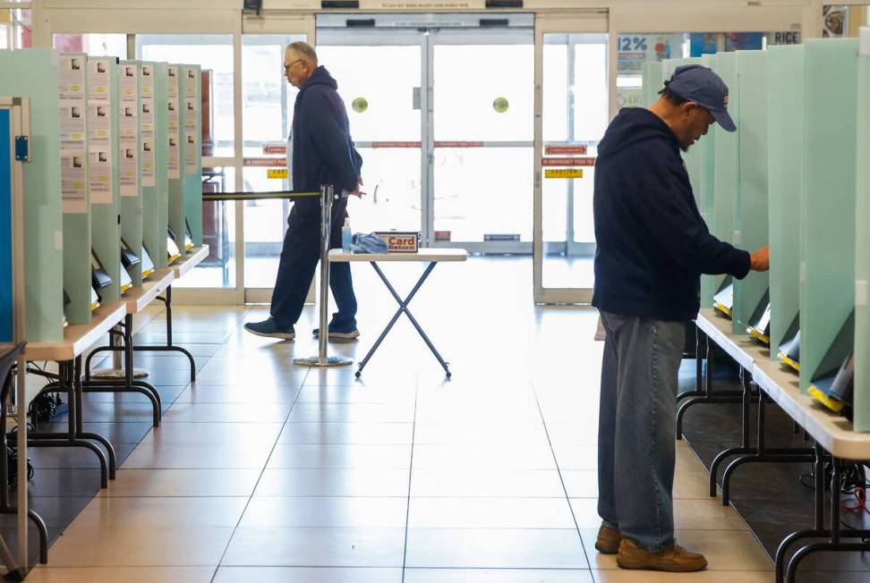
[[[749,254],[710,234],[677,136],[647,109],[622,109],[604,133],[593,207],[593,306],[603,311],[692,320],[701,274],[749,273]]]

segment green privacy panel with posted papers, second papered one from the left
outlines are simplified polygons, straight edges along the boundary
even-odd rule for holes
[[[118,65],[115,57],[88,59],[90,244],[112,278],[104,303],[120,299],[121,232],[118,226]]]

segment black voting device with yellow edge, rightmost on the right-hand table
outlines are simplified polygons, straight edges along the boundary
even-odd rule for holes
[[[829,410],[851,416],[850,378],[854,377],[855,311],[840,327],[840,332],[825,353],[812,377],[807,392]],[[847,411],[848,410],[848,411]]]

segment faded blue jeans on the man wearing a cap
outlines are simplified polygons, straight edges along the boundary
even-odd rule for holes
[[[598,513],[651,551],[674,545],[677,376],[686,323],[601,312]]]

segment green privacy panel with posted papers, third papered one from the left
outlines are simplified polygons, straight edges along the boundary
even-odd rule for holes
[[[141,181],[141,67],[122,61],[118,71],[118,182],[120,183],[121,237],[132,252],[142,258]],[[133,285],[142,284],[140,261],[130,269]]]

